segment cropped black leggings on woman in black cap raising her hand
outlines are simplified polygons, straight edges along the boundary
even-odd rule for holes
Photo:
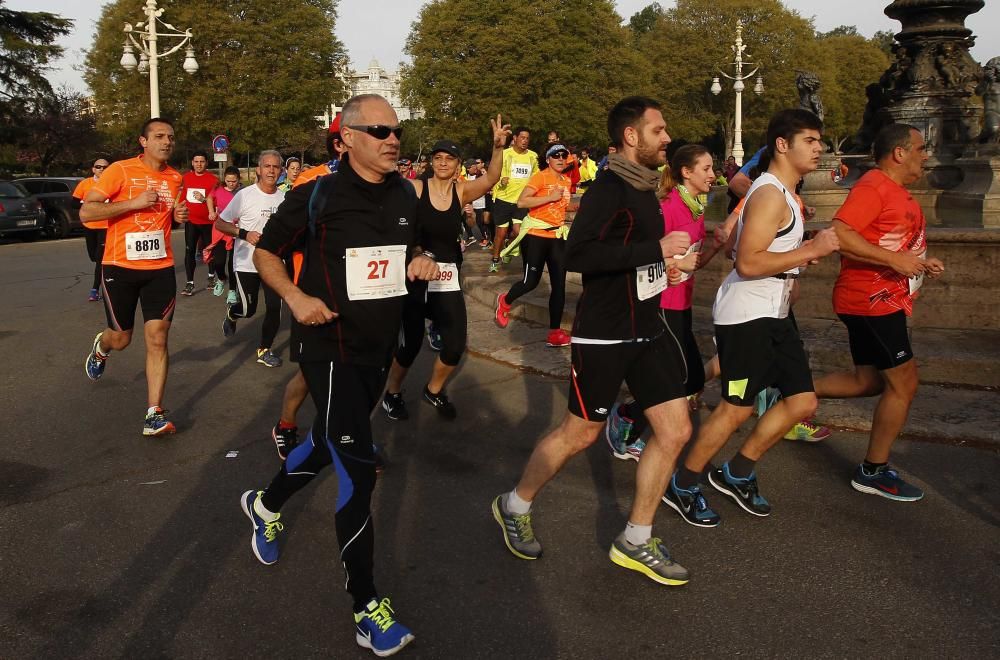
[[[427,282],[407,282],[403,303],[403,336],[396,349],[396,362],[407,369],[424,344],[424,318],[434,320],[441,334],[441,362],[454,367],[465,352],[468,318],[461,291],[428,292]]]

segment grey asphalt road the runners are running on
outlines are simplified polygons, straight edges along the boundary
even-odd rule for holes
[[[141,341],[84,377],[103,324],[88,268],[81,239],[0,246],[0,657],[370,657],[342,591],[333,477],[286,508],[278,564],[250,554],[238,497],[277,469],[268,429],[292,373],[251,359],[259,320],[224,342],[219,299],[179,301],[180,432],[146,440]],[[444,423],[415,401],[427,366],[413,419],[376,421],[378,583],[417,634],[401,657],[996,656],[997,453],[901,443],[927,498],[896,504],[848,487],[862,436],[783,443],[761,467],[770,518],[710,494],[724,522],[701,530],[664,508],[656,529],[693,573],[664,588],[607,559],[634,463],[601,446],[537,503],[544,558],[502,545],[490,499],[561,416],[563,381],[470,358]]]

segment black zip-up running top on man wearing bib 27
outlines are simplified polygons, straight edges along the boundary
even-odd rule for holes
[[[322,194],[313,199],[316,212],[310,222],[310,200],[321,181]],[[382,183],[365,181],[346,156],[337,173],[288,192],[268,220],[257,249],[285,258],[300,247],[304,236],[306,259],[299,288],[338,314],[322,326],[293,322],[293,360],[388,364],[399,336],[404,296],[350,300],[347,257],[356,248],[403,245],[408,263],[417,237],[416,209],[417,197],[408,181],[395,172]]]

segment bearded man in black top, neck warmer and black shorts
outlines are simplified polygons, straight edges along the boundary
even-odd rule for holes
[[[609,555],[660,584],[681,585],[688,582],[688,572],[652,536],[652,524],[691,432],[681,382],[683,356],[658,314],[658,294],[666,287],[663,260],[687,251],[689,239],[685,232],[663,235],[655,168],[666,162],[670,137],[659,104],[643,97],[622,99],[608,117],[608,133],[621,151],[584,196],[567,245],[566,266],[583,274],[569,410],[536,445],[517,487],[493,500],[493,517],[516,557],[541,556],[532,502],[570,458],[597,440],[624,380],[656,433],[639,461],[628,525]]]

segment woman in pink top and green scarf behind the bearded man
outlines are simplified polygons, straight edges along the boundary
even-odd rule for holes
[[[664,231],[668,234],[683,231],[691,240],[688,254],[673,260],[682,272],[676,278],[677,283],[671,283],[660,294],[660,316],[671,338],[683,348],[684,394],[692,410],[698,409],[698,396],[705,388],[705,371],[698,340],[694,336],[691,313],[694,300],[692,273],[708,264],[718,251],[716,244],[704,244],[705,205],[702,200],[712,189],[714,178],[712,154],[700,144],[687,144],[674,153],[670,166],[663,169],[657,188]],[[641,433],[645,426],[642,411],[636,409],[634,399],[611,410],[604,437],[616,458],[639,460],[645,446]],[[670,495],[671,489],[667,489],[667,498]]]

